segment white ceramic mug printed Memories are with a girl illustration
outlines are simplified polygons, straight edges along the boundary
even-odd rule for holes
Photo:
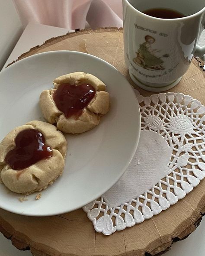
[[[205,26],[204,0],[122,0],[125,64],[135,84],[147,91],[166,91],[179,83],[194,55]],[[144,14],[164,8],[185,17],[161,19]]]

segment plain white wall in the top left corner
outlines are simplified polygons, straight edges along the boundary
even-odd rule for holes
[[[0,70],[23,32],[13,0],[0,0]]]

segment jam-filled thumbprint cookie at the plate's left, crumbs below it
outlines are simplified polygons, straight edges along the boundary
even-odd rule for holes
[[[18,126],[0,143],[0,180],[19,194],[41,191],[62,174],[66,152],[67,141],[54,125]]]

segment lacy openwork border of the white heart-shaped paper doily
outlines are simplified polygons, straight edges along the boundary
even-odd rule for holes
[[[166,210],[205,177],[205,107],[181,93],[160,93],[150,97],[143,97],[136,90],[135,93],[141,109],[141,131],[152,131],[166,140],[171,147],[170,161],[163,178],[138,197],[113,207],[112,199],[119,192],[114,185],[106,199],[102,196],[83,207],[95,230],[105,235]],[[134,164],[138,166],[138,162]],[[132,184],[129,189],[134,187]]]

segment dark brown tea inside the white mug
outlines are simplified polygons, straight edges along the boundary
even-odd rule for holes
[[[145,10],[143,13],[161,19],[176,19],[185,17],[182,13],[179,13],[175,10],[164,9],[164,8],[154,8]]]

